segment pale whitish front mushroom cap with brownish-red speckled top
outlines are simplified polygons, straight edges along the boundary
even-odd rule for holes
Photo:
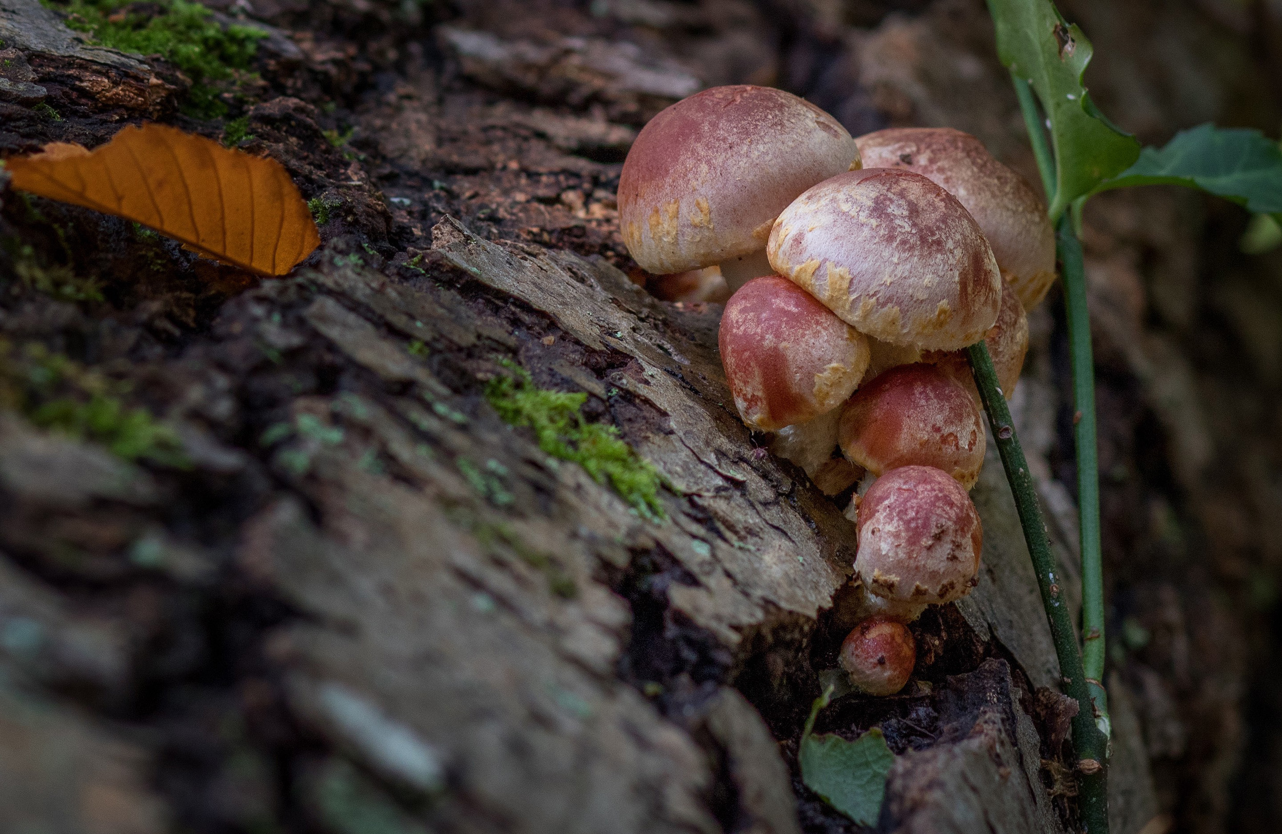
[[[956,197],[920,174],[865,168],[814,186],[779,214],[770,265],[856,331],[958,350],[997,320],[1001,274]]]

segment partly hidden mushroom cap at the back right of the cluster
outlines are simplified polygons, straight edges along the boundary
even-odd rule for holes
[[[1055,229],[1027,179],[976,137],[947,127],[891,128],[855,141],[865,168],[919,173],[960,200],[1024,307],[1042,300],[1055,283]]]

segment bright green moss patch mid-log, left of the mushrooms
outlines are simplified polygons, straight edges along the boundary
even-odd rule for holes
[[[663,475],[619,439],[617,428],[583,419],[586,393],[546,391],[535,386],[524,369],[510,363],[505,366],[512,375],[495,377],[485,392],[504,421],[532,428],[541,450],[578,464],[597,483],[609,482],[645,518],[664,518],[659,501]]]

